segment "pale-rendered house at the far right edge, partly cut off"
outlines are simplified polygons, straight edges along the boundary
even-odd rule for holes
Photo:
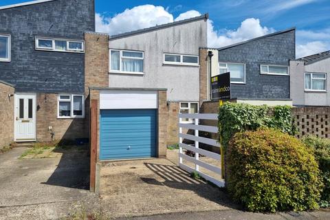
[[[290,61],[290,94],[295,106],[329,106],[330,51]]]

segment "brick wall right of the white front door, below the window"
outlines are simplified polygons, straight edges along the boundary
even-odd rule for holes
[[[36,95],[36,140],[38,142],[52,141],[49,126],[53,127],[54,140],[75,140],[89,137],[85,118],[57,118],[58,94]]]

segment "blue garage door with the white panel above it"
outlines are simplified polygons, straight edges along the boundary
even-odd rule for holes
[[[100,91],[100,160],[158,156],[159,91]]]

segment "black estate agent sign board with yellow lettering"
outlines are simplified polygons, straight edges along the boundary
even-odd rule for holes
[[[230,99],[230,72],[211,78],[212,100]]]

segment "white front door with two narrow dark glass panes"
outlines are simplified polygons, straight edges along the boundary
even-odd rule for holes
[[[36,95],[15,94],[14,109],[16,142],[36,140]]]

